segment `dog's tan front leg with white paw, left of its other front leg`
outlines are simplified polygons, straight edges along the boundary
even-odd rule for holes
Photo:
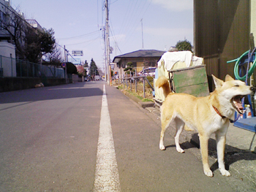
[[[208,163],[208,137],[206,135],[199,135],[200,139],[200,150],[202,154],[202,161],[203,161],[203,172],[206,174],[208,177],[213,177],[214,174],[211,172],[211,169],[209,167]]]

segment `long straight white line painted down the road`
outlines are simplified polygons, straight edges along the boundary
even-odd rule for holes
[[[121,191],[105,85],[99,123],[94,191]]]

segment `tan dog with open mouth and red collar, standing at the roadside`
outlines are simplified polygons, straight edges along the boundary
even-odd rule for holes
[[[214,75],[212,75],[214,77]],[[203,158],[203,171],[208,177],[213,173],[208,164],[208,139],[216,135],[219,171],[222,175],[230,176],[225,169],[224,154],[227,128],[234,112],[244,113],[241,99],[253,93],[254,87],[245,85],[240,80],[234,80],[227,74],[225,82],[214,77],[216,89],[206,97],[195,97],[186,93],[171,93],[166,77],[162,76],[156,82],[157,87],[163,88],[165,101],[161,107],[162,131],[159,148],[165,150],[164,135],[170,123],[176,124],[175,144],[179,153],[184,153],[178,139],[184,125],[198,131],[200,150]]]

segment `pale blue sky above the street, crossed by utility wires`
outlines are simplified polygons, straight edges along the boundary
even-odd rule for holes
[[[105,66],[105,0],[10,0],[26,19],[53,28],[60,47],[83,50],[74,57]],[[193,45],[193,0],[109,0],[110,47],[116,55],[169,50],[180,40]],[[64,50],[61,48],[61,50]]]

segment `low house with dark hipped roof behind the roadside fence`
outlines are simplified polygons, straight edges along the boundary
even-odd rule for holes
[[[123,77],[124,69],[127,67],[128,62],[132,62],[132,66],[137,72],[140,72],[144,67],[155,66],[157,67],[157,61],[161,58],[165,51],[162,50],[136,50],[124,55],[117,55],[113,58],[113,63],[116,63],[114,69],[115,73],[118,73],[118,77]]]

